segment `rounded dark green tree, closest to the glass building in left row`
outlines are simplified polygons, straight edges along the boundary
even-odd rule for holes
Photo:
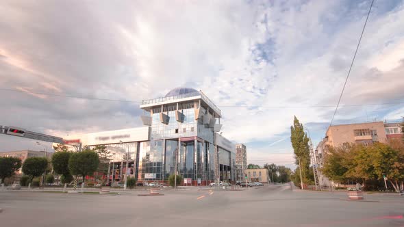
[[[81,152],[74,152],[68,159],[68,170],[73,175],[83,176],[83,181],[87,175],[91,176],[99,166],[99,157],[97,152],[88,148]]]

